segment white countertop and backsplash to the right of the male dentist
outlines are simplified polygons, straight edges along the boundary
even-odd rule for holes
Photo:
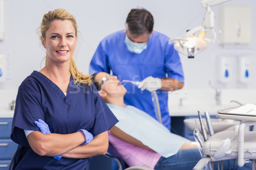
[[[186,84],[186,83],[185,83]],[[190,89],[182,88],[168,94],[168,108],[170,116],[198,116],[208,111],[211,116],[217,111],[239,106],[241,104],[255,103],[255,89],[221,89],[221,105],[216,105],[216,91],[212,88]]]

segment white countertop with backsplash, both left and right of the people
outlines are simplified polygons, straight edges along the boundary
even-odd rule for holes
[[[17,90],[0,90],[0,118],[12,118],[14,111],[9,104],[16,99]],[[198,116],[198,109],[204,115],[216,115],[217,111],[247,103],[256,104],[256,89],[221,89],[221,105],[216,105],[214,89],[180,89],[169,93],[168,107],[170,116]]]

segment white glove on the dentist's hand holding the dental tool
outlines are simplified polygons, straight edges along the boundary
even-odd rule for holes
[[[140,82],[138,88],[140,88],[142,91],[146,89],[152,92],[162,88],[162,82],[160,78],[154,78],[152,76],[149,76],[146,77],[142,82]]]

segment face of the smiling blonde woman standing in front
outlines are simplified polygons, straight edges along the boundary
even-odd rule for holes
[[[41,42],[47,51],[48,62],[70,61],[76,48],[77,36],[70,20],[54,20]]]

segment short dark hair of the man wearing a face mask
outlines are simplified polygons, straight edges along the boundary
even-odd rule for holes
[[[131,9],[125,25],[132,35],[139,37],[144,33],[151,34],[154,19],[151,13],[145,9]]]

